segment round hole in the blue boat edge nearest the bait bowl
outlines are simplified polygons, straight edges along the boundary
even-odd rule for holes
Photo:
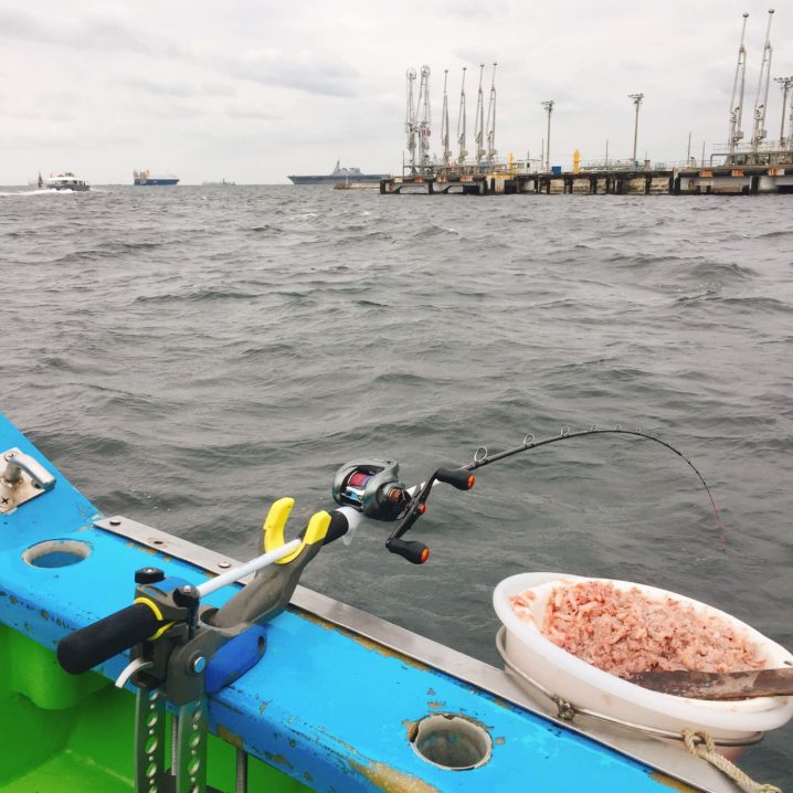
[[[484,765],[493,748],[486,730],[456,713],[424,717],[411,731],[410,742],[420,758],[450,771]]]

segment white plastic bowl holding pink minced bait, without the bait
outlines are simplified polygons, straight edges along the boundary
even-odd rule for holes
[[[598,669],[547,639],[540,632],[548,596],[554,586],[580,581],[602,581],[617,589],[635,586],[647,598],[674,598],[691,605],[701,614],[716,614],[731,624],[733,630],[754,642],[764,656],[765,667],[793,666],[793,655],[784,647],[718,609],[684,595],[611,579],[585,579],[564,573],[521,573],[501,581],[493,593],[493,604],[506,627],[505,655],[518,669],[546,689],[569,700],[574,706],[598,713],[644,725],[655,729],[680,732],[684,728],[707,730],[715,739],[749,739],[752,733],[768,732],[786,723],[793,717],[793,697],[758,697],[732,701],[688,699],[669,694],[651,691],[633,683]],[[535,592],[531,601],[533,624],[521,620],[509,601],[526,590]],[[537,689],[524,684],[537,697]]]

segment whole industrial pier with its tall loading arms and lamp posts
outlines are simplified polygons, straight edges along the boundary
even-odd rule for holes
[[[443,110],[441,120],[442,150],[431,155],[430,125],[430,66],[423,65],[419,73],[406,71],[406,154],[402,157],[402,176],[388,177],[380,181],[380,193],[424,193],[427,195],[463,194],[526,194],[526,193],[585,193],[590,195],[667,194],[667,195],[758,195],[760,193],[793,192],[793,109],[791,109],[789,134],[785,136],[785,107],[787,95],[793,89],[793,76],[774,77],[783,87],[782,124],[778,140],[768,138],[765,128],[769,85],[771,80],[771,21],[774,10],[769,10],[765,44],[760,66],[760,80],[754,103],[751,136],[741,128],[746,87],[744,36],[748,13],[743,14],[743,27],[738,50],[732,97],[730,99],[730,131],[727,145],[713,147],[706,167],[705,144],[702,156],[691,157],[691,134],[688,136],[686,159],[680,162],[653,162],[637,159],[638,112],[645,98],[644,93],[628,94],[635,113],[633,123],[633,156],[628,159],[610,159],[609,141],[604,160],[582,161],[577,148],[572,155],[572,170],[562,171],[561,166],[551,166],[551,116],[554,99],[540,102],[547,114],[547,130],[542,139],[539,159],[507,161],[498,159],[496,148],[496,67],[493,63],[489,102],[485,101],[485,64],[479,64],[479,83],[475,129],[473,140],[467,138],[465,77],[463,66],[457,117],[456,142],[453,150],[448,113],[448,70],[444,70]],[[420,76],[421,74],[421,76]],[[415,82],[419,80],[417,91]],[[487,113],[485,114],[485,105]],[[468,142],[472,144],[470,150]],[[522,147],[521,147],[522,148]],[[717,165],[713,165],[713,163]]]

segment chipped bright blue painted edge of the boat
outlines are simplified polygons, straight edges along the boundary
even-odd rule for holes
[[[57,484],[0,515],[1,623],[53,649],[72,630],[129,605],[140,568],[154,564],[195,584],[207,580],[205,569],[180,561],[167,542],[158,552],[157,543],[145,548],[97,527],[103,516],[91,501],[0,415],[0,453],[11,447],[35,457]],[[52,569],[23,561],[31,546],[65,538],[87,543],[87,558]],[[251,544],[253,556],[253,537]],[[330,546],[324,552],[353,551]],[[219,590],[207,602],[222,605],[234,591]],[[210,698],[210,729],[313,790],[679,790],[647,764],[305,609],[293,605],[266,631],[260,663]],[[115,679],[127,663],[119,655],[98,670]],[[493,739],[489,760],[455,772],[422,759],[409,736],[420,719],[438,712],[482,725]]]

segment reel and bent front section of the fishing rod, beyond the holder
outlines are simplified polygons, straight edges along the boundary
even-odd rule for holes
[[[425,482],[412,488],[406,488],[400,480],[399,463],[394,461],[369,459],[347,463],[336,474],[332,488],[334,499],[342,508],[352,507],[352,509],[366,517],[376,520],[399,521],[396,528],[385,541],[385,547],[392,553],[398,553],[414,564],[423,564],[430,558],[430,549],[423,542],[403,540],[402,537],[426,510],[426,501],[437,482],[450,484],[459,490],[469,490],[476,480],[474,472],[484,468],[486,465],[491,465],[551,443],[606,434],[641,437],[658,443],[674,452],[697,475],[710,499],[717,526],[719,530],[723,529],[713,495],[694,463],[678,448],[666,441],[662,441],[656,435],[642,432],[641,427],[624,430],[620,425],[614,429],[601,429],[595,425],[589,430],[577,432],[571,432],[569,426],[564,426],[559,435],[547,437],[542,441],[537,441],[532,433],[528,433],[524,436],[520,445],[493,455],[488,453],[487,447],[479,446],[474,454],[473,462],[458,468],[438,468]]]

